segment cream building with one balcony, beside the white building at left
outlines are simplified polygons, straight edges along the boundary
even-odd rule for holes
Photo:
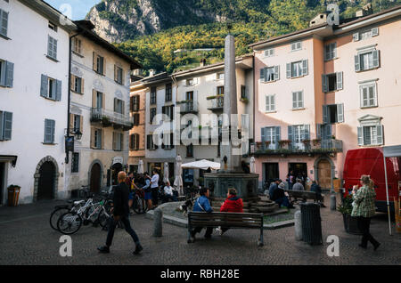
[[[82,133],[66,166],[70,190],[89,185],[93,191],[116,182],[127,170],[130,71],[132,58],[94,34],[86,20],[76,21],[72,38],[70,134]]]

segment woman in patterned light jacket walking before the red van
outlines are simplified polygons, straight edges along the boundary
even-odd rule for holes
[[[375,214],[374,199],[376,192],[373,189],[374,183],[370,176],[362,175],[361,188],[357,186],[353,190],[353,208],[351,216],[357,217],[358,228],[362,231],[362,241],[359,247],[367,248],[367,243],[370,241],[376,250],[381,244],[375,240],[370,233],[371,218]]]

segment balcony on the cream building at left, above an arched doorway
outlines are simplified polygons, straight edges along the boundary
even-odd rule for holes
[[[91,123],[102,124],[103,127],[113,126],[128,131],[134,125],[134,118],[114,111],[93,108],[91,111]]]

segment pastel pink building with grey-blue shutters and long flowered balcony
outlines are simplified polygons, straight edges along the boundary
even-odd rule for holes
[[[259,185],[342,178],[348,150],[401,144],[401,6],[251,44]]]

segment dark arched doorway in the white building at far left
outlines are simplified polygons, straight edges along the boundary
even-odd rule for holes
[[[37,200],[54,198],[55,170],[55,166],[50,161],[46,161],[40,166],[40,176],[37,184]]]

